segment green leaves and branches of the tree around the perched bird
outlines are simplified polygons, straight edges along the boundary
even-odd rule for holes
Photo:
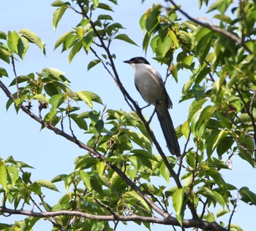
[[[45,44],[27,29],[0,32],[0,59],[14,70],[11,77],[0,67],[7,109],[15,106],[43,129],[87,151],[76,157],[72,173],[51,181],[31,181],[32,167],[13,157],[0,160],[1,215],[28,216],[15,224],[0,224],[0,230],[31,230],[40,218],[48,219],[52,230],[116,230],[118,222],[136,222],[149,230],[154,223],[183,230],[242,230],[233,224],[233,213],[241,201],[256,205],[256,195],[248,187],[229,184],[222,173],[232,171],[229,163],[235,155],[255,168],[256,2],[199,3],[214,13],[214,25],[188,15],[172,0],[154,4],[140,18],[143,50],[151,49],[166,66],[165,79],[172,76],[178,82],[179,72],[189,71],[180,103],[191,103],[187,120],[176,128],[178,138],[185,140],[180,163],[163,152],[148,120],[119,79],[113,41],[136,43],[113,21],[116,0],[54,1],[54,30],[68,10],[82,16],[77,26],[57,39],[55,49],[69,52],[69,62],[82,50],[85,55],[93,53],[88,70],[102,65],[131,111],[94,110],[95,103],[103,105],[99,95],[89,90],[73,92],[68,78],[55,68],[18,75],[16,60],[25,58],[31,44],[45,54]],[[13,78],[10,87],[15,86],[16,92],[10,92],[4,77]],[[78,101],[87,109],[78,107]],[[31,107],[37,104],[39,109],[33,112]],[[77,138],[75,128],[90,134],[86,144]],[[152,177],[165,179],[166,185],[173,179],[175,186],[155,186]],[[55,183],[60,181],[67,192],[59,203],[50,205],[42,190],[58,191]],[[34,197],[40,203],[34,203]],[[24,209],[31,204],[32,211]],[[228,218],[227,223],[222,216]]]

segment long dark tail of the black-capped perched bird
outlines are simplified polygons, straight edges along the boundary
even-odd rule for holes
[[[157,117],[160,122],[162,132],[165,136],[165,141],[167,143],[167,148],[171,154],[175,154],[176,157],[181,156],[181,149],[178,145],[178,139],[176,136],[175,129],[173,127],[173,121],[170,117],[167,108],[165,110],[157,110]]]

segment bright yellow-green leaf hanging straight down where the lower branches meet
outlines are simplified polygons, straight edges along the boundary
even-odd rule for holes
[[[173,194],[173,208],[176,211],[176,218],[179,224],[183,224],[183,202],[184,202],[184,189],[177,189]]]

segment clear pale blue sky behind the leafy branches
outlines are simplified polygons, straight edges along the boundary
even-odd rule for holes
[[[124,101],[123,96],[116,87],[106,71],[101,67],[87,71],[87,65],[93,55],[86,56],[85,53],[80,52],[75,56],[71,64],[68,63],[68,52],[61,53],[60,49],[53,51],[56,39],[67,31],[72,30],[72,27],[79,23],[80,17],[74,12],[68,12],[57,31],[53,31],[52,17],[54,7],[50,4],[50,0],[24,0],[24,1],[2,1],[0,9],[0,31],[19,31],[22,28],[29,28],[34,31],[46,44],[46,57],[35,46],[31,45],[26,60],[18,60],[15,64],[18,75],[29,74],[31,72],[39,72],[42,68],[54,67],[65,72],[65,76],[72,82],[72,90],[90,90],[97,93],[102,101],[107,105],[108,109],[124,109],[129,111],[129,107]],[[143,40],[143,32],[139,26],[140,16],[151,7],[151,4],[165,1],[149,1],[146,0],[144,4],[140,4],[138,0],[132,1],[118,1],[118,7],[115,7],[113,19],[121,23],[127,30],[123,31],[128,34],[140,47],[132,46],[124,42],[113,42],[112,52],[116,54],[116,67],[119,76],[124,86],[127,88],[130,95],[132,95],[141,106],[146,105],[140,94],[135,90],[134,85],[134,70],[131,66],[123,63],[124,60],[135,56],[144,56],[141,48]],[[205,10],[198,11],[197,0],[179,0],[178,4],[184,6],[184,10],[189,12],[194,17],[205,16]],[[151,50],[148,50],[146,58],[152,66],[157,68],[165,75],[165,66],[160,66],[159,63],[152,59]],[[10,74],[10,79],[13,78],[12,66],[7,66],[0,60],[0,66],[7,69]],[[189,79],[189,72],[184,71],[178,76],[178,84],[174,79],[168,79],[167,92],[172,98],[173,109],[170,111],[173,117],[175,126],[180,125],[187,118],[188,103],[178,103],[181,98],[181,89]],[[10,79],[2,79],[6,85],[9,85]],[[12,92],[14,92],[14,88]],[[61,173],[70,173],[74,170],[74,160],[78,155],[85,154],[86,151],[79,149],[77,146],[69,141],[66,141],[60,136],[56,136],[50,130],[40,130],[40,125],[31,120],[23,112],[15,114],[15,110],[11,108],[9,111],[5,109],[7,99],[4,93],[0,91],[0,138],[1,149],[0,157],[5,159],[12,155],[15,160],[22,160],[34,167],[32,170],[32,180],[37,179],[53,179]],[[102,106],[96,105],[97,109],[102,109]],[[33,108],[36,111],[36,108]],[[145,110],[147,117],[151,115],[152,107]],[[159,130],[159,123],[154,118],[152,122],[153,130]],[[79,133],[79,131],[77,131]],[[163,137],[159,138],[160,144],[165,146]],[[86,141],[85,141],[86,143]],[[182,149],[182,141],[181,141]],[[252,173],[255,173],[252,168],[234,157],[233,170],[223,172],[224,179],[236,187],[247,186],[252,191],[256,192],[255,183],[253,183]],[[163,182],[165,184],[165,182]],[[64,193],[62,185],[58,184],[59,189]],[[60,193],[50,192],[45,190],[46,201],[50,204],[57,203]],[[255,207],[249,207],[243,202],[238,203],[237,213],[234,214],[233,222],[239,224],[244,231],[252,230],[248,222],[248,214],[256,214]],[[13,222],[15,219],[23,219],[23,216],[10,216],[9,218],[1,217],[1,222]],[[187,217],[190,218],[190,217]],[[228,217],[227,217],[228,219]],[[225,221],[226,222],[226,221]],[[129,224],[128,227],[123,227],[122,230],[130,230],[131,227],[137,230],[146,230],[145,227],[138,227],[136,224]],[[50,223],[38,222],[34,230],[50,230]],[[153,231],[159,230],[159,225],[154,225]],[[119,227],[118,230],[121,230]],[[170,227],[161,227],[161,230],[170,230]]]

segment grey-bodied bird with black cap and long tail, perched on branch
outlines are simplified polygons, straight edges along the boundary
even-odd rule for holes
[[[144,101],[148,103],[148,106],[155,106],[167,148],[171,154],[180,159],[181,149],[173,127],[173,120],[168,111],[173,107],[173,103],[167,94],[161,75],[143,57],[131,58],[130,60],[125,60],[124,63],[129,63],[135,68],[135,87]]]

